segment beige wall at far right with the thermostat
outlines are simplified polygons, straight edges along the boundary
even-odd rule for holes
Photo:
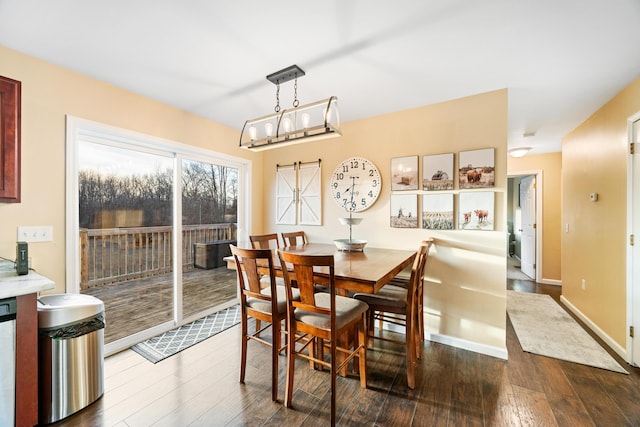
[[[562,143],[562,227],[569,227],[562,238],[562,293],[621,347],[627,316],[627,118],[638,111],[640,79]],[[597,202],[589,200],[593,192]]]

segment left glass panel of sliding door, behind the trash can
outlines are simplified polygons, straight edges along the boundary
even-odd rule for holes
[[[78,145],[80,292],[105,304],[105,343],[174,318],[174,159]]]

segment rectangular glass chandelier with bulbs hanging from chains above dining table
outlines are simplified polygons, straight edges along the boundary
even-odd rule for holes
[[[240,147],[253,151],[268,150],[301,142],[341,136],[338,98],[312,102],[300,106],[298,77],[305,72],[292,65],[267,76],[276,85],[275,112],[268,116],[247,120],[240,133]],[[280,109],[280,84],[294,82],[293,108]]]

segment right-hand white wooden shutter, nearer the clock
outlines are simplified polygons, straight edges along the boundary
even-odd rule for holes
[[[320,162],[298,169],[298,224],[322,225],[322,179]]]

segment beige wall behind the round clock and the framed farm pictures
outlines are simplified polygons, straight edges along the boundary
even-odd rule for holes
[[[432,339],[462,347],[468,344],[475,350],[476,345],[486,346],[479,349],[482,352],[506,352],[507,91],[349,122],[342,131],[341,138],[265,152],[263,229],[281,232],[303,228],[316,242],[348,238],[348,229],[337,219],[346,214],[330,197],[329,179],[345,158],[366,157],[380,170],[383,188],[373,207],[355,215],[364,220],[354,226],[353,237],[366,239],[372,247],[408,249],[415,249],[422,238],[435,237],[426,287],[427,325]],[[454,152],[457,165],[459,151],[488,147],[496,148],[496,186],[490,189],[496,197],[496,231],[436,232],[389,226],[392,158],[418,155],[421,164],[423,155]],[[323,225],[277,226],[273,201],[276,165],[317,159],[322,159]],[[455,188],[458,193],[457,179]]]

